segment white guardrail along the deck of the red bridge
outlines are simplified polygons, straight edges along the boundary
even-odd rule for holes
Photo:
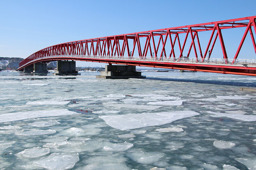
[[[34,59],[28,63],[33,63],[37,60],[47,59],[52,57],[79,57],[79,58],[99,58],[99,59],[115,59],[115,60],[136,60],[136,61],[156,61],[156,62],[180,62],[180,63],[196,63],[196,64],[212,64],[212,65],[222,65],[222,64],[230,64],[230,65],[252,65],[256,66],[255,59],[224,59],[224,58],[190,58],[187,56],[177,57],[177,58],[164,58],[164,57],[140,57],[140,56],[113,56],[113,55],[53,55],[53,56],[46,56]],[[234,61],[234,63],[232,63]]]

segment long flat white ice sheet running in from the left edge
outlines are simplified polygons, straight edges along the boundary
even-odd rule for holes
[[[0,123],[37,118],[37,117],[63,116],[63,115],[76,115],[76,114],[80,114],[80,113],[72,112],[72,111],[69,111],[68,109],[6,113],[6,114],[0,114]]]

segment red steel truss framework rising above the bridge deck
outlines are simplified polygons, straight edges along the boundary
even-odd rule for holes
[[[250,32],[252,44],[256,54],[256,44],[253,36],[254,34],[253,30],[256,34],[255,19],[256,19],[256,16],[252,16],[252,17],[244,17],[244,18],[237,18],[237,19],[229,19],[224,21],[208,22],[204,24],[179,26],[179,27],[158,29],[158,30],[138,32],[138,33],[129,33],[129,34],[114,35],[114,36],[93,38],[93,39],[87,39],[87,40],[66,42],[62,44],[53,45],[51,47],[47,47],[37,51],[36,53],[28,56],[26,59],[20,62],[20,67],[32,60],[40,59],[47,56],[53,56],[53,55],[55,56],[56,55],[98,55],[98,56],[108,55],[113,57],[118,56],[118,58],[119,57],[121,58],[124,55],[128,55],[130,59],[132,59],[134,52],[136,52],[138,53],[138,56],[140,57],[140,59],[143,59],[146,56],[149,56],[154,61],[157,61],[157,60],[160,61],[163,58],[170,59],[171,57],[173,57],[173,61],[175,61],[176,56],[179,56],[179,59],[183,56],[185,46],[188,45],[188,42],[187,42],[188,39],[191,39],[191,44],[190,46],[188,45],[189,50],[188,50],[187,56],[190,55],[190,51],[193,46],[195,56],[196,56],[196,62],[198,62],[198,56],[200,56],[201,61],[204,61],[206,55],[208,54],[208,50],[210,50],[209,57],[211,56],[212,49],[218,37],[220,40],[223,57],[224,59],[228,59],[228,55],[226,52],[221,30],[246,27],[242,40],[240,41],[240,44],[238,45],[238,48],[236,50],[236,54],[233,59],[233,63],[234,63],[243,46],[244,40],[248,32]],[[198,34],[203,31],[208,31],[209,33],[211,33],[204,55],[202,53],[199,36],[198,36]],[[179,34],[182,34],[182,33],[185,34],[185,39],[183,42],[181,42],[179,38]],[[215,38],[212,42],[214,35],[215,35]],[[158,41],[155,41],[155,40],[158,40]],[[170,45],[167,45],[166,43],[167,41],[170,41]],[[176,50],[174,53],[174,46],[177,41],[178,41],[178,47],[180,50],[179,51]],[[155,42],[157,44],[155,44]],[[210,49],[211,44],[212,44],[212,47]],[[166,48],[171,50],[170,54],[166,53]],[[197,49],[199,49],[199,53],[200,53],[199,55],[198,55]]]

